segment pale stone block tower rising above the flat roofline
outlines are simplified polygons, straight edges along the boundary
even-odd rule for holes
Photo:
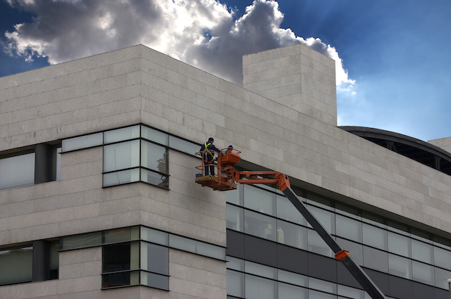
[[[337,125],[335,61],[307,46],[243,56],[243,87]]]

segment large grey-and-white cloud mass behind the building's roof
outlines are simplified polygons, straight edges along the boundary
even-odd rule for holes
[[[337,84],[352,89],[333,46],[280,28],[273,0],[254,1],[245,14],[216,0],[8,0],[36,15],[6,32],[5,51],[49,63],[144,44],[207,72],[242,83],[242,56],[302,43],[336,61]],[[346,90],[346,89],[344,89]]]

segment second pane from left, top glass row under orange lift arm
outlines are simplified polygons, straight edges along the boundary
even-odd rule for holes
[[[253,186],[245,187],[245,208],[256,210],[268,215],[276,215],[274,210],[275,194],[255,188]]]

